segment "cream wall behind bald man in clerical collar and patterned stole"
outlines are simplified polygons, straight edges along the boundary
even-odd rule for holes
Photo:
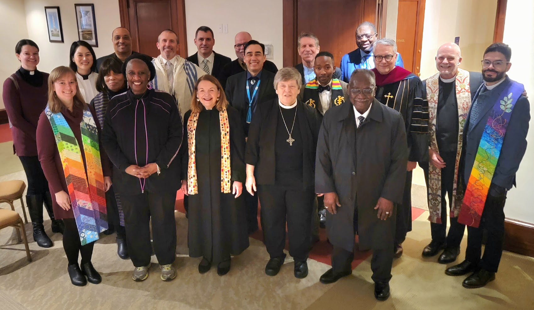
[[[460,37],[460,67],[480,71],[486,47],[493,43],[497,0],[432,0],[426,2],[421,79],[434,75],[434,60],[439,46]]]

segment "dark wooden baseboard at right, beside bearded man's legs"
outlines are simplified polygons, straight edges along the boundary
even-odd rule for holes
[[[534,257],[534,224],[506,218],[504,249]]]

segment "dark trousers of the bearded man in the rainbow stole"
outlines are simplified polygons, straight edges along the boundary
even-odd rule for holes
[[[491,192],[491,186],[490,186]],[[497,272],[502,256],[502,244],[504,243],[504,205],[506,202],[506,192],[500,197],[488,195],[480,226],[467,226],[467,250],[466,260],[478,264],[484,270]],[[482,235],[483,231],[488,231],[488,239],[484,248],[482,259]]]

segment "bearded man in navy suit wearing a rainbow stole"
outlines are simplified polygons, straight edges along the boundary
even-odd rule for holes
[[[486,48],[482,61],[484,85],[478,88],[464,128],[461,176],[465,195],[458,222],[467,225],[464,262],[446,269],[465,275],[465,288],[480,288],[495,279],[504,241],[506,193],[527,150],[530,104],[524,86],[506,72],[512,49],[504,43]],[[484,255],[483,231],[488,232]]]

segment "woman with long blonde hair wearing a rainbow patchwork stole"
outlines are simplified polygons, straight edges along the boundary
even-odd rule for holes
[[[37,123],[37,154],[54,193],[54,216],[65,223],[67,270],[72,284],[78,286],[102,281],[91,256],[93,241],[107,229],[104,192],[111,186],[111,174],[98,142],[100,125],[95,116],[80,95],[74,71],[63,66],[53,69],[48,78],[48,105]]]

